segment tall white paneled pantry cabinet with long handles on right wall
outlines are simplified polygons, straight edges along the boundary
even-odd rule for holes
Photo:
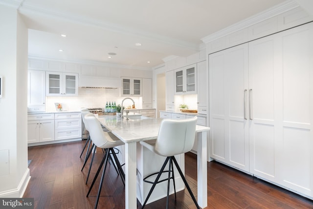
[[[313,23],[209,55],[210,157],[313,197]]]

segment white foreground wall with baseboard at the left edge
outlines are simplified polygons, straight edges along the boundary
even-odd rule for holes
[[[27,28],[17,10],[0,4],[0,197],[21,197],[27,168]]]

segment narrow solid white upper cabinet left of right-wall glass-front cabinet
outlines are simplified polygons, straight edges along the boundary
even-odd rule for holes
[[[165,73],[165,110],[175,111],[174,70]]]

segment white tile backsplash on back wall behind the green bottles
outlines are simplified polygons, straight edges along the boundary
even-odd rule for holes
[[[142,97],[132,97],[135,107],[142,108]],[[125,97],[121,96],[121,89],[93,89],[79,88],[78,96],[47,96],[46,111],[55,111],[54,103],[62,103],[63,110],[76,111],[81,108],[103,108],[107,102],[121,104]],[[133,105],[131,100],[124,101],[124,107]]]

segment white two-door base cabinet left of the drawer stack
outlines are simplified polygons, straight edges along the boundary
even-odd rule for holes
[[[28,115],[27,120],[28,143],[54,140],[54,114]]]

